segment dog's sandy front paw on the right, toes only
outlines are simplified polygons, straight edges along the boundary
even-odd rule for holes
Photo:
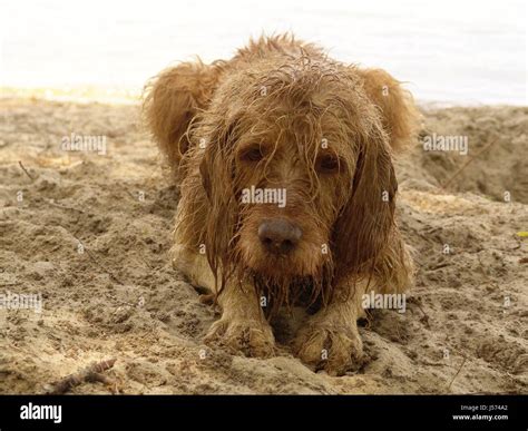
[[[363,343],[356,327],[312,324],[300,331],[293,349],[305,364],[330,375],[343,375],[362,364]]]

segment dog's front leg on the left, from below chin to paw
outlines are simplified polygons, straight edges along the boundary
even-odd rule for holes
[[[221,344],[246,356],[273,355],[275,339],[250,284],[227,283],[218,296],[222,317],[206,335],[206,342]]]

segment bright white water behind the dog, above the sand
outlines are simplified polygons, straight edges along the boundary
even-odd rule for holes
[[[421,101],[528,105],[526,13],[524,0],[13,0],[0,7],[0,77],[138,90],[176,60],[229,58],[250,36],[293,31],[387,69]]]

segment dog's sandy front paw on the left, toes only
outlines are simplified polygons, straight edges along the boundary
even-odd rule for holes
[[[275,339],[267,322],[222,317],[213,323],[205,342],[246,356],[268,357],[275,353]]]

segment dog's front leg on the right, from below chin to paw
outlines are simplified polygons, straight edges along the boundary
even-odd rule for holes
[[[342,375],[361,364],[363,344],[356,321],[363,314],[365,287],[364,282],[342,283],[331,302],[301,327],[293,349],[305,364],[331,375]]]

